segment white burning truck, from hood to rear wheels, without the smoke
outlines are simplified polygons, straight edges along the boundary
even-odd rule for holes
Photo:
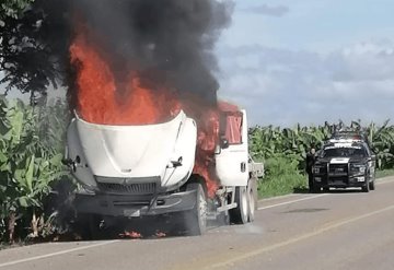
[[[252,222],[264,167],[248,154],[246,113],[221,103],[216,116],[208,119],[215,124],[209,133],[183,109],[149,125],[94,124],[76,113],[67,157],[82,187],[78,213],[100,219],[181,213],[193,235],[206,231],[208,219]]]

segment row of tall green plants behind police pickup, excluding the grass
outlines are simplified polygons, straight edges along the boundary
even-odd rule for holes
[[[380,168],[394,167],[394,127],[389,122],[386,120],[380,127],[373,122],[362,127],[359,119],[350,122],[351,129],[367,132]],[[302,168],[308,150],[312,146],[318,149],[338,128],[346,128],[346,124],[341,120],[338,124],[326,121],[323,126],[297,125],[292,129],[256,126],[250,129],[251,153],[258,160],[275,159],[278,154],[292,156]]]

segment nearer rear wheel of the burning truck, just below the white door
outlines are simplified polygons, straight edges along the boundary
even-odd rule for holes
[[[230,210],[230,220],[235,224],[245,224],[248,220],[247,187],[235,187],[236,208]]]

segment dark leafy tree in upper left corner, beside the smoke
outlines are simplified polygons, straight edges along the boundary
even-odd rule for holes
[[[62,1],[63,2],[63,1]],[[31,94],[31,104],[46,101],[47,87],[63,84],[63,67],[58,55],[68,48],[67,40],[50,40],[54,30],[62,31],[58,24],[58,12],[46,12],[60,1],[11,0],[1,4],[0,10],[0,84],[5,94],[18,89]],[[56,9],[59,11],[59,9]],[[67,36],[67,35],[65,35]],[[62,52],[62,54],[60,54]]]

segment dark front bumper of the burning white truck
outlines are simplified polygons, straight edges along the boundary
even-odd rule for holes
[[[78,213],[109,216],[147,216],[192,210],[196,204],[196,191],[157,196],[127,196],[107,193],[76,195]]]

